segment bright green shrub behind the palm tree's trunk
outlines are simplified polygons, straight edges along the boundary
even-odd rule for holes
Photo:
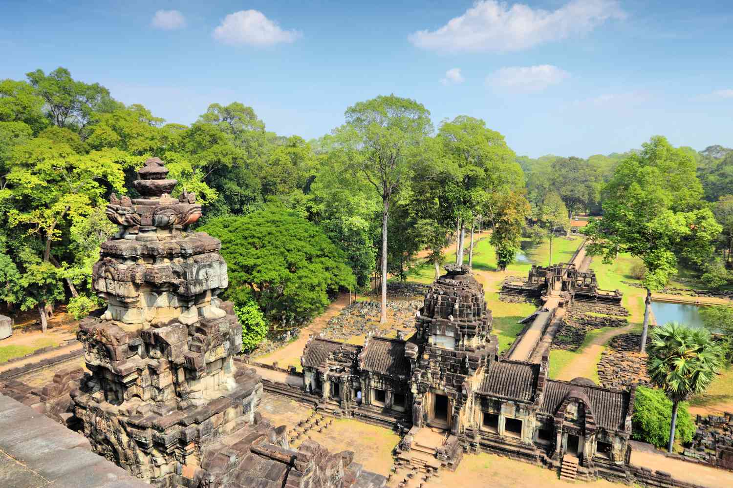
[[[657,447],[666,447],[669,443],[671,418],[672,402],[662,391],[644,386],[636,389],[636,402],[631,417],[632,439],[648,442]],[[679,404],[676,432],[675,439],[683,444],[692,442],[695,424],[688,412],[687,403]]]

